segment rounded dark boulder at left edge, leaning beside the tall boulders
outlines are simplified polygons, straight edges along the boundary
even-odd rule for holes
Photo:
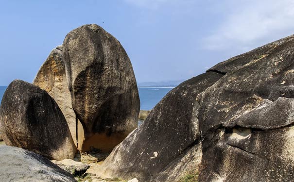
[[[57,103],[45,90],[24,81],[15,80],[6,89],[0,126],[6,145],[49,159],[72,159],[77,151]]]

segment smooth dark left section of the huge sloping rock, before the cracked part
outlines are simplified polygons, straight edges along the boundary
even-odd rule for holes
[[[197,167],[202,151],[196,97],[222,76],[208,72],[174,88],[112,151],[98,174],[140,182],[175,182],[186,170]]]

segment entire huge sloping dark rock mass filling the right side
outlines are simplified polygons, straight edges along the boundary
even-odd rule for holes
[[[105,160],[104,177],[177,182],[294,179],[294,36],[181,83]],[[186,173],[189,174],[189,173]]]

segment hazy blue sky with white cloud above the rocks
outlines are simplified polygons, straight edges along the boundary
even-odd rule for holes
[[[32,82],[66,34],[90,23],[121,42],[139,83],[186,80],[293,34],[293,10],[294,0],[1,0],[0,85]]]

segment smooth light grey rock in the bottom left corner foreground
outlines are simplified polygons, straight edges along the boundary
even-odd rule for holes
[[[76,182],[45,157],[16,147],[0,146],[1,182]]]

